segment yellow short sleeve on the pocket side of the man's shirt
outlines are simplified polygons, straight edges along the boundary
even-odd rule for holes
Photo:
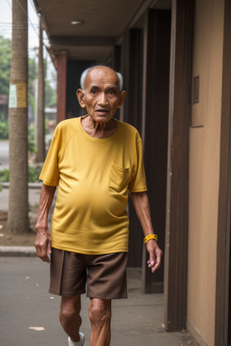
[[[132,171],[132,178],[128,189],[130,192],[143,192],[147,191],[146,177],[143,166],[143,145],[139,136],[136,144],[136,150],[133,153],[134,166]]]

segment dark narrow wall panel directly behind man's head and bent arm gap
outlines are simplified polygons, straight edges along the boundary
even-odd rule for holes
[[[125,90],[125,123],[131,123],[141,133],[142,131],[142,75],[143,75],[143,31],[130,29],[124,38],[124,69]],[[129,201],[129,257],[128,267],[142,266],[143,231]]]

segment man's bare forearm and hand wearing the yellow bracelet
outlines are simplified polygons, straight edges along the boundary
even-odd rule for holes
[[[153,234],[152,220],[150,213],[149,200],[146,192],[131,193],[135,212],[143,228],[144,237]],[[146,242],[146,249],[149,252],[148,267],[152,269],[152,273],[161,266],[162,250],[157,242],[150,239]]]

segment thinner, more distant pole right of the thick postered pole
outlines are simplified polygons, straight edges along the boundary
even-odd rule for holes
[[[40,17],[40,47],[39,47],[39,77],[38,77],[38,108],[37,108],[37,131],[36,162],[43,162],[45,159],[45,114],[44,114],[44,62],[42,43],[42,16]]]

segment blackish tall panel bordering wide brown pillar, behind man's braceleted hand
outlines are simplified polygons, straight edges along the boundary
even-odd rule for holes
[[[164,249],[171,12],[149,10],[147,26],[146,96],[144,165],[148,184],[154,232],[159,236],[159,245]],[[148,254],[144,256],[143,291],[162,292],[163,263],[155,274],[147,268]]]

